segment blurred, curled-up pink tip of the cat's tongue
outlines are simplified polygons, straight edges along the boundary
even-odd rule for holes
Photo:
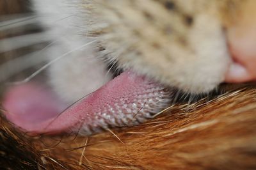
[[[35,82],[12,86],[3,98],[3,114],[24,131],[44,132],[47,121],[63,111],[64,104]]]

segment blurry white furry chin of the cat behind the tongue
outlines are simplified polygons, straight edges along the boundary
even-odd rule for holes
[[[45,35],[52,39],[46,53],[49,62],[61,56],[49,68],[54,91],[70,103],[109,81],[111,76],[106,75],[106,66],[92,50],[90,42],[94,39],[86,35],[90,19],[86,19],[83,1],[34,0],[33,3],[46,29]]]

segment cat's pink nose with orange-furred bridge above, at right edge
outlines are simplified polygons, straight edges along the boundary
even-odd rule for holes
[[[256,81],[256,1],[244,4],[236,23],[227,29],[232,56],[226,82]]]

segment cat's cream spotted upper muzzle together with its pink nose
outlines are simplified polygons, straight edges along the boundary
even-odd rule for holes
[[[255,1],[97,1],[109,58],[167,86],[255,80]]]

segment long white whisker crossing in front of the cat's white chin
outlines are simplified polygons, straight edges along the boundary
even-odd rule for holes
[[[68,56],[68,54],[71,54],[72,52],[75,52],[77,50],[80,50],[80,49],[83,49],[84,47],[90,45],[91,43],[94,43],[96,42],[97,40],[93,40],[92,42],[88,42],[88,43],[85,43],[84,45],[81,45],[80,47],[77,47],[76,49],[74,50],[70,50],[68,52],[66,52],[65,54],[59,56],[58,58],[56,59],[53,59],[52,61],[50,61],[49,63],[45,64],[44,66],[42,66],[41,68],[39,68],[38,70],[36,70],[36,72],[32,73],[31,75],[29,75],[29,77],[27,77],[26,79],[24,79],[23,81],[17,81],[17,82],[13,82],[14,84],[22,84],[22,83],[25,83],[25,82],[28,82],[30,81],[31,79],[33,79],[33,77],[35,77],[36,75],[38,75],[38,73],[42,72],[43,70],[45,70],[45,68],[47,68],[48,66],[52,65],[53,63],[55,63],[56,61],[58,61],[59,59],[65,57],[65,56]]]

